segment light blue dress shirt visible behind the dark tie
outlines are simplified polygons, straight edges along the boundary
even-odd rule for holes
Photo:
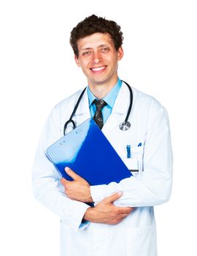
[[[118,92],[120,91],[120,88],[122,86],[122,81],[118,78],[117,84],[112,88],[111,91],[103,98],[104,101],[107,103],[107,105],[102,108],[102,114],[104,118],[104,123],[107,121],[107,118],[112,113],[112,108],[115,104],[115,99],[117,97]],[[88,86],[88,100],[89,100],[89,108],[90,108],[90,116],[93,118],[93,116],[96,113],[96,105],[93,103],[94,99],[96,98],[93,93],[90,91],[90,88]]]

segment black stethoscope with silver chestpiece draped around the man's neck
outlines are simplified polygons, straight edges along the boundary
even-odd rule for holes
[[[121,122],[121,123],[119,124],[119,128],[121,129],[121,131],[127,131],[127,130],[131,127],[131,123],[128,121],[128,117],[130,116],[131,108],[132,108],[132,105],[133,105],[133,92],[132,92],[131,86],[129,86],[128,83],[126,83],[126,82],[123,81],[123,80],[121,80],[121,81],[124,82],[124,83],[128,86],[128,89],[129,89],[129,92],[130,92],[130,104],[129,104],[129,107],[128,107],[127,115],[126,115],[126,117],[125,117],[125,121],[123,121],[123,122]],[[82,93],[80,94],[80,97],[79,97],[79,99],[77,100],[77,104],[75,105],[74,110],[73,110],[73,112],[72,112],[72,114],[71,114],[69,120],[66,121],[66,123],[64,124],[64,127],[63,127],[63,135],[66,134],[66,129],[67,129],[67,127],[68,127],[68,124],[71,123],[73,129],[76,128],[76,124],[75,124],[75,122],[72,120],[72,118],[73,118],[74,114],[76,113],[78,106],[80,105],[80,101],[81,101],[81,99],[82,99],[83,94],[85,93],[85,90],[86,90],[86,87],[85,87],[85,89],[82,91]]]

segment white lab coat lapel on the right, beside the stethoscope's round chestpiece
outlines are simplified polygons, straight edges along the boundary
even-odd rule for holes
[[[129,103],[130,93],[125,83],[123,83],[119,93],[117,94],[117,98],[115,100],[115,105],[112,109],[112,113],[107,119],[102,129],[104,135],[109,134],[109,132],[111,132],[112,129],[118,128],[120,123],[125,120],[125,116],[128,112]]]

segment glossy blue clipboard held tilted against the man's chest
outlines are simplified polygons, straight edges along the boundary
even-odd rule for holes
[[[115,149],[93,119],[88,119],[47,148],[47,157],[69,181],[64,168],[70,167],[90,185],[120,182],[132,176]]]

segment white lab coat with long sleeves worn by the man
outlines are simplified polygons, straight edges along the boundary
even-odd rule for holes
[[[48,146],[63,136],[63,126],[69,119],[81,91],[64,99],[53,108],[39,141],[33,170],[34,195],[48,209],[61,217],[61,256],[156,256],[156,229],[153,206],[165,203],[171,194],[172,154],[169,119],[165,108],[154,98],[132,88],[133,108],[131,128],[121,131],[130,94],[123,83],[112,114],[102,132],[129,169],[139,169],[131,178],[119,184],[90,187],[93,200],[98,203],[114,192],[123,192],[117,206],[131,206],[135,210],[117,225],[86,223],[82,217],[89,207],[70,200],[63,192],[58,172],[47,159]],[[74,116],[77,125],[90,118],[88,95],[85,91]],[[138,146],[142,143],[142,146]],[[131,145],[131,159],[126,146]]]

